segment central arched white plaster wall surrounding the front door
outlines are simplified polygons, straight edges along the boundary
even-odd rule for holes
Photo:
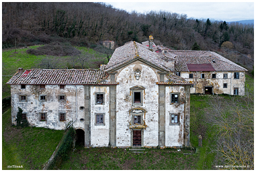
[[[134,66],[142,67],[140,79],[134,77]],[[140,61],[124,67],[118,71],[116,81],[120,84],[116,86],[116,146],[132,146],[131,132],[129,123],[131,116],[129,110],[134,107],[142,107],[146,110],[146,116],[143,120],[147,125],[144,130],[144,145],[142,146],[157,146],[158,145],[158,85],[156,85],[157,70],[143,64]],[[140,85],[144,87],[143,105],[132,105],[131,87]]]

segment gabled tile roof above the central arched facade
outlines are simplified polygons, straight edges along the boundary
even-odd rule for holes
[[[148,50],[146,46],[139,44],[138,42],[128,42],[124,46],[116,48],[115,52],[112,54],[110,61],[107,64],[106,71],[110,71],[120,65],[132,60],[133,58],[142,58],[157,67],[170,71],[165,65],[165,61],[159,58],[157,52],[152,52]]]

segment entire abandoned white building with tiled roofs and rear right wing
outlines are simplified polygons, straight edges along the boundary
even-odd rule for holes
[[[72,124],[86,147],[189,146],[190,92],[238,87],[243,95],[245,71],[214,52],[169,50],[150,37],[148,46],[116,48],[100,69],[19,69],[7,82],[11,120],[21,107],[32,126]]]

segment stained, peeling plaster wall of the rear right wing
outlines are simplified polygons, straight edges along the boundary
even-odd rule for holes
[[[189,79],[189,73],[193,73],[193,79]],[[212,74],[216,74],[216,79],[212,79]],[[228,74],[227,79],[223,79],[223,74]],[[204,74],[204,79],[201,79],[201,74]],[[234,79],[234,72],[181,72],[181,77],[187,81],[193,81],[194,87],[191,87],[190,93],[204,93],[204,87],[213,86],[215,94],[234,94],[234,87],[239,88],[239,95],[245,95],[245,73],[239,72],[239,79]],[[223,88],[224,83],[227,83],[227,88]]]

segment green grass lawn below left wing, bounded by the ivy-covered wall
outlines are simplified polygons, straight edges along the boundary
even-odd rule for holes
[[[2,124],[2,169],[8,165],[42,169],[64,134],[64,130],[11,126],[11,109],[3,113]]]

